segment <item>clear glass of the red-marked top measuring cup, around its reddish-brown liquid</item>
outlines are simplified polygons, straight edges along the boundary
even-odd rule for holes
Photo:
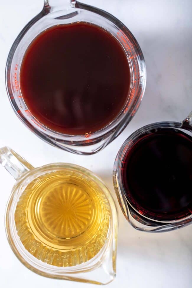
[[[87,22],[110,32],[122,45],[131,71],[131,86],[121,113],[108,126],[94,133],[67,135],[49,129],[31,113],[20,90],[20,68],[34,38],[48,27]],[[75,74],[71,75],[74,77]],[[141,49],[131,32],[109,13],[78,1],[45,0],[43,10],[33,18],[14,41],[6,64],[6,88],[14,112],[32,132],[56,147],[76,154],[93,154],[105,148],[131,121],[139,108],[146,84],[146,67]]]

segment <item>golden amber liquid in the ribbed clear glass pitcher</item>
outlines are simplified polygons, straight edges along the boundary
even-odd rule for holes
[[[93,258],[105,244],[110,206],[94,181],[74,171],[56,171],[25,188],[15,224],[25,249],[37,259],[75,266]]]

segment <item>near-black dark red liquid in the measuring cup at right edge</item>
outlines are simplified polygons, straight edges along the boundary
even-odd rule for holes
[[[130,204],[152,219],[192,213],[192,138],[173,129],[143,136],[127,153],[123,186]]]

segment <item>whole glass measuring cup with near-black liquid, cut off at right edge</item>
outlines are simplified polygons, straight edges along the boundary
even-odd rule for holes
[[[167,231],[192,221],[192,112],[182,122],[135,131],[121,146],[113,182],[124,216],[143,231]]]

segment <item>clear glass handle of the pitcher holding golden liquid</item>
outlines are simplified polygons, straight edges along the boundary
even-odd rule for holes
[[[9,147],[0,148],[0,164],[17,180],[34,167]]]

